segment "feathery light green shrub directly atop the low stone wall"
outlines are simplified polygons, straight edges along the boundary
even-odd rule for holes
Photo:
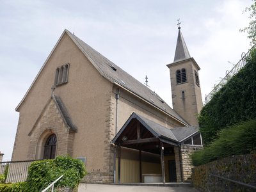
[[[194,152],[191,158],[193,165],[198,166],[223,157],[255,152],[256,119],[221,130],[212,143]]]

